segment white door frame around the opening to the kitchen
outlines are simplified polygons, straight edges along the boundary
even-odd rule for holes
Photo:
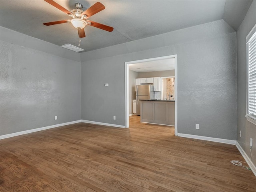
[[[175,59],[175,135],[178,135],[178,62],[177,62],[177,54],[142,59],[136,61],[125,62],[125,127],[129,128],[129,64],[140,63],[140,62],[148,62],[148,61],[156,61],[162,59],[174,58]]]

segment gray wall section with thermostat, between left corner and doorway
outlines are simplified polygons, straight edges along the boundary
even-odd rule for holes
[[[120,62],[105,58],[82,63],[82,120],[124,125],[124,65]]]

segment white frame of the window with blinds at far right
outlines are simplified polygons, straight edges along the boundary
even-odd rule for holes
[[[246,86],[246,119],[256,125],[256,107],[255,114],[249,114],[249,43],[256,40],[256,25],[252,28],[250,33],[246,36],[246,71],[247,71],[247,86]],[[256,73],[256,72],[255,72]]]

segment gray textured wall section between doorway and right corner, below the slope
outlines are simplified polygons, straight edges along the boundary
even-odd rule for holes
[[[178,132],[236,140],[236,33],[178,49]]]

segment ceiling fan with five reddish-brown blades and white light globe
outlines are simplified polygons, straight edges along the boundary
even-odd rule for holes
[[[72,19],[48,22],[48,23],[43,23],[43,24],[46,26],[50,26],[50,25],[56,25],[56,24],[70,22],[78,30],[78,36],[79,36],[78,46],[80,46],[80,42],[81,42],[80,38],[85,37],[84,27],[86,25],[100,28],[100,29],[103,29],[103,30],[106,30],[109,32],[112,32],[114,30],[113,27],[87,20],[90,16],[93,16],[94,14],[105,9],[105,6],[103,4],[101,4],[100,2],[96,2],[94,5],[92,5],[90,8],[88,8],[85,11],[82,10],[83,5],[81,3],[76,3],[75,4],[76,9],[69,11],[69,10],[65,9],[64,7],[60,6],[60,4],[54,2],[53,0],[44,0],[44,1],[48,2],[52,6],[61,10],[62,12],[68,14],[70,17],[72,17]]]

